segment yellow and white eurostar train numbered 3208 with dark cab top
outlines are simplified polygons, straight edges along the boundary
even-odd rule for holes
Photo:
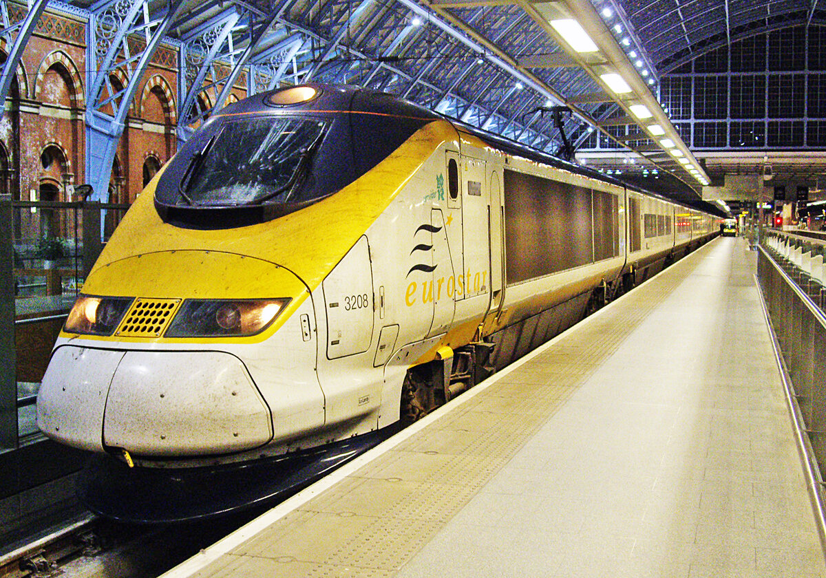
[[[425,415],[717,234],[388,94],[256,95],[205,122],[112,235],[38,424],[135,469],[337,443]]]

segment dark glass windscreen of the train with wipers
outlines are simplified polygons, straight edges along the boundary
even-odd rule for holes
[[[192,206],[293,201],[324,135],[324,122],[306,118],[228,122],[192,156],[181,197]]]

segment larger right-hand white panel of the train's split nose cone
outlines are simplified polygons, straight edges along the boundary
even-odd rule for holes
[[[230,353],[130,351],[112,378],[103,418],[109,448],[138,456],[205,456],[272,438],[267,405]]]

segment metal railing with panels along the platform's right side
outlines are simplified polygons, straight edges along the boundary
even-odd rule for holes
[[[826,241],[770,231],[758,249],[757,281],[826,548]]]

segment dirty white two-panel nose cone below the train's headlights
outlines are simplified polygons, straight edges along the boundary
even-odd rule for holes
[[[37,416],[40,429],[59,442],[184,457],[239,452],[273,438],[267,405],[230,353],[65,345],[54,358]]]

